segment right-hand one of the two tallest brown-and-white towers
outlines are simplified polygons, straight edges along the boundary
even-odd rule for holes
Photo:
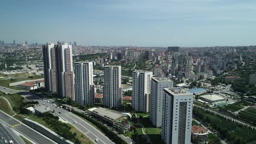
[[[72,46],[65,42],[55,45],[56,52],[56,93],[62,98],[75,100]]]

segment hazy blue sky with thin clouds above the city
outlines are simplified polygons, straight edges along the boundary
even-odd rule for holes
[[[3,0],[5,43],[256,45],[256,0]]]

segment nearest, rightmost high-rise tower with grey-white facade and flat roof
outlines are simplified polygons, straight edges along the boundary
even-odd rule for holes
[[[161,138],[164,144],[190,144],[193,95],[182,88],[164,88]]]

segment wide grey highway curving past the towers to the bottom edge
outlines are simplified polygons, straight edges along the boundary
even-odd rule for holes
[[[70,124],[74,125],[75,128],[77,128],[79,131],[81,131],[83,134],[85,134],[87,137],[89,137],[94,143],[95,139],[98,139],[97,144],[113,144],[111,140],[108,139],[104,134],[102,134],[100,131],[98,131],[96,128],[91,126],[86,121],[82,120],[78,116],[74,115],[72,112],[66,111],[62,108],[55,108],[53,104],[50,104],[49,102],[46,102],[46,100],[42,100],[42,98],[39,98],[37,96],[33,95],[21,95],[23,97],[26,97],[28,99],[32,99],[34,101],[38,101],[39,104],[45,106],[49,106],[51,109],[54,109],[55,113],[58,114],[61,118],[63,118],[65,121],[69,122]],[[51,99],[47,99],[49,101],[52,101]],[[61,112],[59,114],[59,112]],[[74,123],[76,121],[76,124]],[[96,143],[95,143],[96,144]]]

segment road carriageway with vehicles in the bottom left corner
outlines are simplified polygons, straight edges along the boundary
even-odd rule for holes
[[[0,123],[0,137],[3,137],[3,139],[2,140],[0,139],[0,141],[2,143],[4,142],[4,140],[6,140],[8,143],[9,143],[10,140],[12,140],[14,144],[23,144],[23,143],[20,143],[21,142],[20,140],[16,140],[13,137],[13,135],[10,133],[10,131],[8,131],[7,129],[9,129],[8,126],[3,126]],[[19,141],[19,143],[17,141]]]

